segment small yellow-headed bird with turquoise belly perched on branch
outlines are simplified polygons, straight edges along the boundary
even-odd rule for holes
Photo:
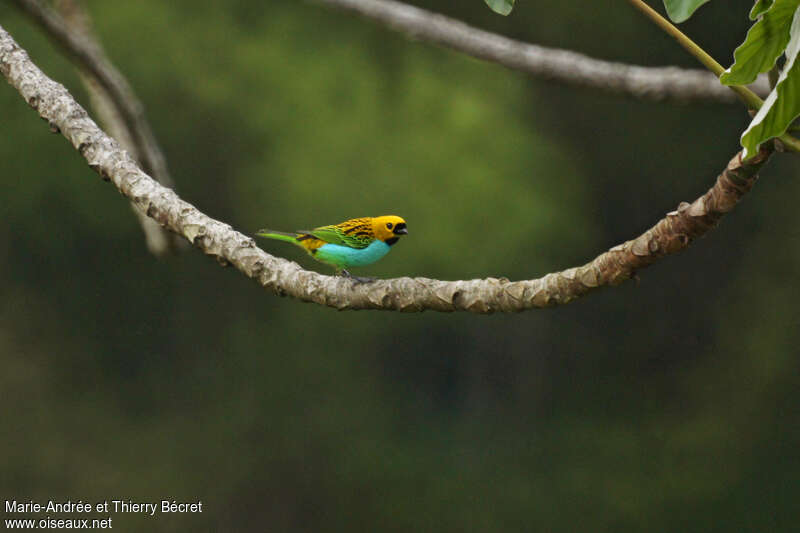
[[[331,265],[336,269],[336,274],[358,281],[371,280],[353,276],[346,269],[371,265],[389,253],[400,236],[406,234],[406,221],[394,215],[354,218],[295,233],[269,229],[256,232],[259,237],[295,244],[317,261]]]

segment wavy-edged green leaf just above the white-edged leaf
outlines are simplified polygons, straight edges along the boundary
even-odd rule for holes
[[[800,0],[775,0],[769,11],[753,24],[744,42],[733,53],[734,62],[722,73],[725,85],[745,85],[775,65],[789,42],[792,15]]]

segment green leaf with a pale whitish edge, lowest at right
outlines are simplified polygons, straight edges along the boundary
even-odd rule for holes
[[[786,132],[792,121],[800,116],[800,9],[792,19],[791,38],[786,47],[786,64],[778,84],[758,110],[750,126],[742,134],[744,153],[748,159],[758,153],[758,147],[767,139]]]

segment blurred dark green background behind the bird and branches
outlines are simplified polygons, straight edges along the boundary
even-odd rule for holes
[[[509,18],[414,3],[695,67],[626,2],[523,0]],[[728,64],[751,4],[682,27]],[[405,217],[361,275],[582,264],[702,194],[748,120],[532,79],[314,3],[87,5],[199,209],[245,232]],[[9,2],[0,24],[88,103]],[[796,531],[797,158],[639,283],[520,315],[406,315],[281,299],[196,250],[157,260],[124,198],[5,84],[0,124],[4,499],[204,502],[113,514],[121,531]]]

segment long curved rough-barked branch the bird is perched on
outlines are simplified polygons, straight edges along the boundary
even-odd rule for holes
[[[97,127],[64,86],[31,62],[2,27],[0,72],[51,127],[72,143],[93,170],[159,224],[276,294],[337,309],[515,312],[564,304],[599,287],[618,285],[711,230],[750,190],[756,172],[772,153],[772,144],[765,143],[749,161],[742,162],[741,154],[737,154],[706,194],[691,204],[682,203],[642,235],[580,267],[515,282],[397,278],[354,285],[349,279],[303,270],[296,263],[267,254],[252,238],[206,216],[150,178]]]

